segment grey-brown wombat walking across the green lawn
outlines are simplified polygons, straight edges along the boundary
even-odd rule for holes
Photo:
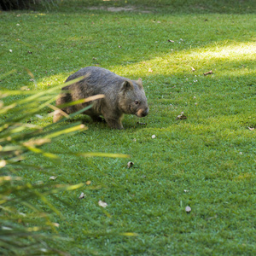
[[[73,73],[66,80],[70,81],[84,77],[79,82],[63,87],[63,92],[56,100],[56,106],[78,101],[89,96],[103,94],[105,97],[93,102],[84,102],[67,108],[61,108],[65,113],[74,113],[92,104],[92,108],[84,111],[94,121],[104,117],[108,126],[113,129],[123,129],[124,113],[144,117],[148,114],[148,102],[143,90],[143,80],[125,79],[102,67],[84,67]],[[61,119],[61,112],[56,111],[54,122]]]

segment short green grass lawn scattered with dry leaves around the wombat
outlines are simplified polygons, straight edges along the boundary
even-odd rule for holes
[[[57,178],[19,173],[31,183],[91,182],[57,195],[68,207],[49,197],[64,217],[52,214],[59,234],[73,238],[55,247],[71,255],[256,254],[255,3],[180,2],[64,1],[0,13],[0,73],[15,69],[2,89],[47,89],[87,66],[143,79],[146,118],[126,115],[125,130],[113,131],[79,115],[67,123],[82,120],[87,131],[44,146],[129,159],[61,154],[55,166],[31,154],[27,163]],[[32,124],[51,123],[48,110]],[[182,112],[187,119],[176,119]]]

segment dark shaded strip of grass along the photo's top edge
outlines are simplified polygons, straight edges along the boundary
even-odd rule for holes
[[[95,12],[108,10],[113,13],[119,11],[136,11],[142,13],[158,14],[245,14],[255,13],[256,7],[253,0],[248,1],[218,1],[207,0],[73,0],[61,3],[62,12],[84,12],[93,7]],[[126,7],[122,9],[120,7]]]

